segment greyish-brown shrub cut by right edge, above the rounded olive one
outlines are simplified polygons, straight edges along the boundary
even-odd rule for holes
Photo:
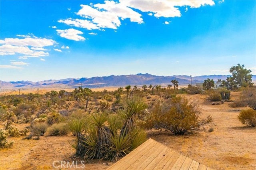
[[[241,99],[246,102],[246,104],[256,110],[256,88],[250,87],[246,88],[241,92]]]

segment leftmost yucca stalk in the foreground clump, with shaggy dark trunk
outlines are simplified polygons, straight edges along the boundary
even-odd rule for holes
[[[76,156],[84,156],[86,152],[84,148],[84,135],[82,135],[85,130],[85,122],[86,121],[84,119],[78,118],[73,118],[68,121],[70,130],[76,135],[76,140],[73,143],[70,143],[70,145],[76,149]]]

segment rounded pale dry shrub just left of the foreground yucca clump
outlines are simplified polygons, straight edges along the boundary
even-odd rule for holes
[[[66,135],[69,132],[69,127],[66,123],[55,123],[48,127],[47,132],[51,136]]]

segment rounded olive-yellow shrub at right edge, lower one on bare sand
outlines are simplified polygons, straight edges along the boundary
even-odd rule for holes
[[[256,110],[253,109],[246,109],[240,111],[239,115],[237,116],[238,120],[247,126],[255,127],[256,125]]]

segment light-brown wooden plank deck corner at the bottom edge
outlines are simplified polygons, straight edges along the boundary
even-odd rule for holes
[[[148,139],[107,170],[212,170],[165,145]]]

